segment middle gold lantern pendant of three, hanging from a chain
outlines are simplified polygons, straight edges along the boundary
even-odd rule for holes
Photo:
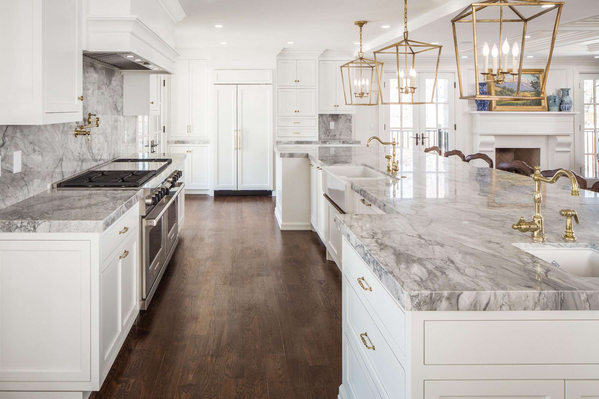
[[[374,51],[374,60],[377,62],[377,55],[382,54],[393,54],[394,63],[397,66],[397,92],[398,100],[385,102],[383,100],[383,93],[379,90],[380,103],[382,104],[432,104],[435,98],[435,88],[437,87],[437,74],[439,71],[439,62],[441,61],[441,48],[443,46],[437,44],[430,44],[426,42],[411,40],[408,38],[408,1],[404,0],[404,39],[397,43],[388,45],[387,47],[381,48],[380,50]],[[435,80],[432,84],[431,99],[428,98],[425,101],[415,101],[416,90],[416,55],[425,53],[425,51],[438,50],[437,54],[437,66],[435,68]],[[383,56],[385,57],[385,56]],[[380,71],[382,72],[382,70]],[[381,86],[382,73],[379,73],[377,69],[377,79],[379,81],[379,87]],[[408,95],[409,101],[402,101],[402,95]]]

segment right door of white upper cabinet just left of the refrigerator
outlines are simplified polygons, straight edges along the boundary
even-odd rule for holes
[[[208,61],[189,61],[189,136],[208,137]]]

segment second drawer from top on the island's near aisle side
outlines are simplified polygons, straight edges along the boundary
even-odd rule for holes
[[[405,397],[406,372],[345,275],[343,304],[343,328],[364,355],[380,394],[386,398]],[[367,345],[374,349],[367,348]]]

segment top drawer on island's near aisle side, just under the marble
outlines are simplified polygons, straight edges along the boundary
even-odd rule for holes
[[[385,333],[389,345],[406,354],[406,313],[368,269],[356,251],[343,239],[343,273],[358,295],[371,307],[371,316],[378,319],[379,329]],[[361,287],[360,282],[364,285]],[[399,352],[397,352],[400,355]]]

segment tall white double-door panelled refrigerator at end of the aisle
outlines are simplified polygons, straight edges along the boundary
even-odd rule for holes
[[[273,89],[215,85],[214,190],[273,189]]]

